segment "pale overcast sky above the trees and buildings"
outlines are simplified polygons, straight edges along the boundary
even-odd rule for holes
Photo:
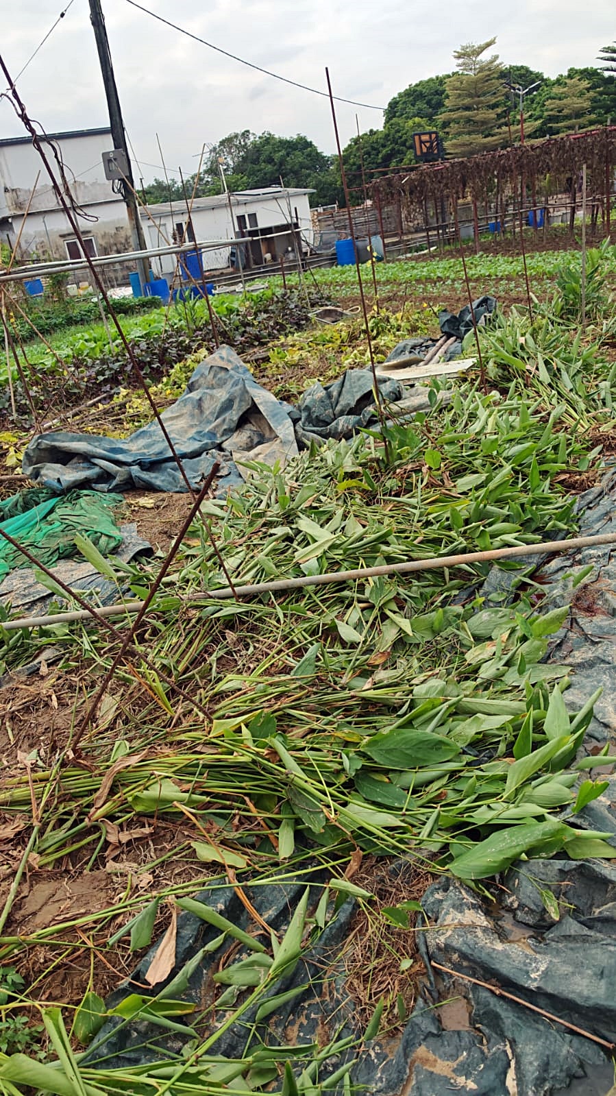
[[[65,0],[64,7],[66,7]],[[255,65],[376,106],[415,80],[453,67],[463,42],[497,35],[509,64],[556,76],[593,65],[616,37],[614,0],[144,0],[193,34]],[[13,78],[62,8],[62,0],[0,0],[0,49]],[[146,180],[160,175],[159,134],[170,168],[196,169],[204,142],[236,129],[306,134],[334,150],[329,103],[223,57],[132,8],[103,0],[124,118]],[[88,0],[73,0],[18,83],[48,132],[107,124]],[[380,126],[377,110],[338,104],[341,139]],[[0,101],[0,137],[23,133]],[[136,171],[136,174],[140,172]]]

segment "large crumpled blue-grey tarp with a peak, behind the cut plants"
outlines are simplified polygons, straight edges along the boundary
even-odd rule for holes
[[[384,380],[379,388],[386,400],[402,395],[396,381]],[[218,460],[218,492],[225,493],[241,480],[238,465],[258,460],[283,466],[297,455],[298,445],[347,437],[374,414],[369,369],[350,369],[326,388],[313,385],[295,409],[262,388],[230,346],[220,346],[199,363],[185,392],[161,419],[191,486],[198,489]],[[57,493],[78,487],[186,490],[157,421],[125,441],[39,434],[24,453],[23,471]]]

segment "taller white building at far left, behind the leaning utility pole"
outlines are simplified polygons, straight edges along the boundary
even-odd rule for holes
[[[65,173],[79,207],[87,216],[78,224],[91,255],[130,250],[126,207],[105,179],[102,155],[113,148],[111,129],[78,129],[49,134],[59,148]],[[57,174],[52,149],[49,160]],[[30,202],[37,174],[32,202]],[[58,203],[46,169],[30,137],[0,140],[0,239],[13,247],[30,202],[20,259],[80,259],[81,251],[66,213]]]

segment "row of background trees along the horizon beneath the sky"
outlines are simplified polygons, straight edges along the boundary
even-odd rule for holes
[[[409,84],[387,105],[381,128],[353,137],[343,150],[354,204],[362,201],[362,162],[376,170],[414,162],[413,133],[438,132],[447,156],[464,157],[504,148],[520,140],[520,93],[527,139],[574,133],[616,123],[616,43],[600,50],[597,67],[570,68],[551,79],[526,65],[504,65],[490,50],[495,38],[468,43],[454,52],[455,71]],[[307,186],[311,205],[344,204],[338,158],[321,152],[308,137],[278,137],[249,129],[210,146],[202,169],[185,181],[195,197],[265,186]],[[148,203],[181,201],[183,185],[155,179],[144,190]]]

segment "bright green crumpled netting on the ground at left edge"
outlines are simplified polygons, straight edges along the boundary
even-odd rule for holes
[[[4,500],[0,529],[19,540],[47,567],[67,556],[78,555],[75,546],[78,533],[87,536],[103,556],[109,556],[122,544],[112,510],[123,502],[122,495],[102,498],[95,491],[72,491],[60,499],[35,488]],[[14,516],[4,520],[4,514]],[[14,568],[27,566],[25,556],[0,537],[0,578]]]

